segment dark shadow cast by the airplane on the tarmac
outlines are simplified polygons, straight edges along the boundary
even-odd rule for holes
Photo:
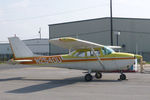
[[[47,89],[53,89],[58,87],[63,87],[71,84],[75,84],[77,82],[85,82],[84,77],[73,77],[66,79],[24,79],[23,77],[9,78],[9,79],[0,79],[0,81],[11,81],[11,80],[24,80],[24,81],[46,81],[46,83],[31,85],[11,91],[7,91],[7,93],[32,93],[38,92]],[[47,82],[48,81],[48,82]],[[120,82],[119,80],[93,80],[92,82]]]

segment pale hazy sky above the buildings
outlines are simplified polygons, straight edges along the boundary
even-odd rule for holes
[[[150,19],[150,0],[112,0],[113,17]],[[49,24],[110,16],[110,0],[0,0],[0,43],[49,37]]]

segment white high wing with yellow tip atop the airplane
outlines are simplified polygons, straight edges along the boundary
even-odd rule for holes
[[[62,37],[49,40],[50,43],[66,49],[102,48],[104,45],[80,40],[72,37]],[[119,46],[108,46],[110,48],[120,48]]]

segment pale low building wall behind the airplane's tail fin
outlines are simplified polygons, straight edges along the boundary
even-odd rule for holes
[[[29,39],[23,40],[24,43],[35,54],[49,55],[49,39]],[[12,57],[12,51],[9,43],[0,44],[0,60]]]

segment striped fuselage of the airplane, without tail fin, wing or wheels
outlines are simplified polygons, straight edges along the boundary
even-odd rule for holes
[[[31,60],[29,62],[20,62],[21,64],[38,65],[38,66],[50,66],[59,68],[71,68],[79,70],[92,70],[92,71],[116,71],[127,70],[134,64],[134,54],[130,53],[111,53],[108,55],[98,56],[102,62],[99,63],[99,59],[96,56],[74,56],[73,54],[56,55],[56,56],[37,56],[27,58],[17,58],[15,60]],[[105,69],[103,68],[105,67]]]

